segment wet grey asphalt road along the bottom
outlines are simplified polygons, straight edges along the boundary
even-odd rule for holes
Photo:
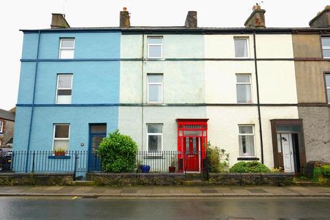
[[[330,219],[329,198],[0,197],[0,219]]]

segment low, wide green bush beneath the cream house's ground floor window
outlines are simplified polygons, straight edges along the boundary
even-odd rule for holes
[[[229,169],[230,173],[270,173],[270,168],[260,162],[238,162]]]

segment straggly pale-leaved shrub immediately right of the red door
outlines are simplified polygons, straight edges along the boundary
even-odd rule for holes
[[[228,171],[229,157],[229,153],[225,153],[224,149],[212,146],[210,142],[208,142],[208,161],[210,163],[211,173]]]

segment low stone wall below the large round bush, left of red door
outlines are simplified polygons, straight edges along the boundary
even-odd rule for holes
[[[179,186],[184,173],[96,173],[97,186]]]

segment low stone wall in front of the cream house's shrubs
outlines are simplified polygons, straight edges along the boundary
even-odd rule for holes
[[[210,173],[214,186],[289,186],[294,175],[287,173]]]

